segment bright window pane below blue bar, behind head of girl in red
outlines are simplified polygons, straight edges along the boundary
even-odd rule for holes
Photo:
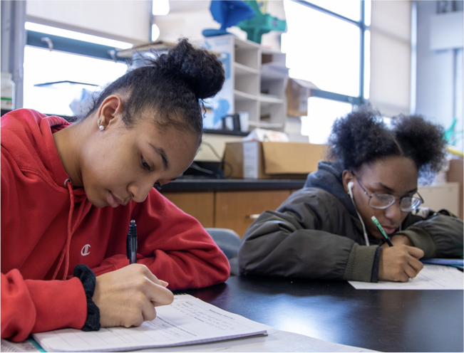
[[[35,87],[38,83],[74,81],[103,86],[127,70],[125,63],[89,58],[70,53],[24,48],[24,107],[43,114],[74,116],[71,101],[82,93],[81,85]],[[92,89],[92,86],[86,86]]]

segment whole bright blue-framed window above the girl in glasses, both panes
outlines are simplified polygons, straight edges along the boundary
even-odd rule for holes
[[[284,0],[282,51],[292,78],[319,90],[301,117],[301,134],[325,143],[336,117],[368,99],[370,0]]]

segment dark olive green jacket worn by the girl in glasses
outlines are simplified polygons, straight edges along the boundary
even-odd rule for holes
[[[264,211],[244,235],[238,253],[242,275],[378,281],[381,241],[369,235],[341,184],[339,165],[319,162],[306,186]],[[464,255],[464,222],[428,209],[411,212],[398,228],[426,258]]]

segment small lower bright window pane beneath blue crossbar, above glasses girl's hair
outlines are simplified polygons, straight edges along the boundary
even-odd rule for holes
[[[301,117],[301,135],[308,136],[310,143],[325,144],[336,118],[351,110],[352,105],[346,102],[311,97],[308,100],[308,116]]]

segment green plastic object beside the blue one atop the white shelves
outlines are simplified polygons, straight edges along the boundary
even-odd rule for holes
[[[270,31],[285,31],[287,21],[279,20],[269,14],[263,14],[256,0],[244,0],[255,12],[252,19],[240,21],[237,27],[247,32],[247,39],[254,43],[261,43],[261,36]]]

